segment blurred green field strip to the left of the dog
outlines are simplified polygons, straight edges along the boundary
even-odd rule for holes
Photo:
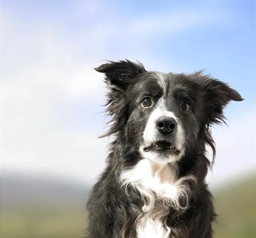
[[[54,208],[29,208],[1,216],[1,238],[83,237],[85,212]]]

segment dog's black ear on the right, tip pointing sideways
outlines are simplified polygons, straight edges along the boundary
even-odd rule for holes
[[[227,83],[210,77],[204,79],[204,110],[207,113],[207,123],[224,122],[224,107],[231,100],[243,101],[244,99]]]

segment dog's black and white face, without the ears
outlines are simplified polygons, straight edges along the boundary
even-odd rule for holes
[[[158,163],[180,159],[199,132],[200,85],[184,75],[145,72],[130,94],[127,135],[131,141],[141,135],[142,157]]]

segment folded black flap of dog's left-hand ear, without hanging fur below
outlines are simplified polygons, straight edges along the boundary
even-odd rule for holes
[[[94,69],[100,73],[105,73],[107,85],[119,91],[125,91],[131,79],[146,72],[142,63],[133,63],[127,59],[119,62],[108,61],[108,63]]]

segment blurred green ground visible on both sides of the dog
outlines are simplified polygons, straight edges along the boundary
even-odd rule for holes
[[[255,178],[227,184],[214,191],[218,224],[216,238],[256,237]],[[51,204],[38,207],[1,206],[1,238],[82,238],[86,213],[80,204]]]

